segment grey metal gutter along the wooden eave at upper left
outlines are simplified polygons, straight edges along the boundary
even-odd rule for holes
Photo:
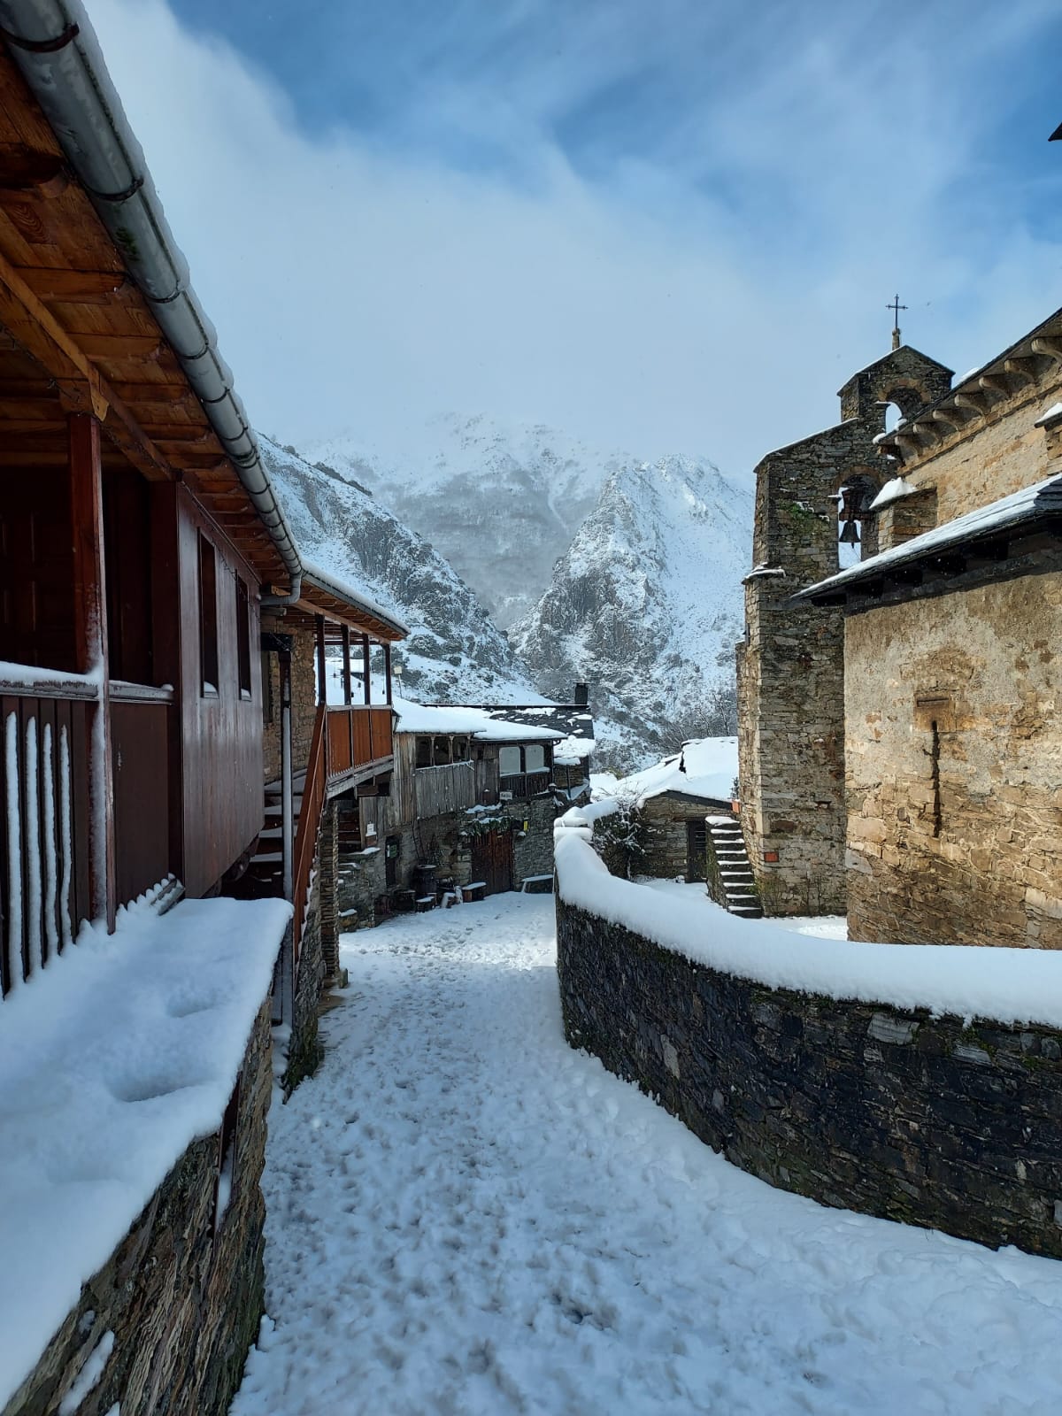
[[[302,561],[81,0],[0,0],[0,34],[147,299],[290,578]]]

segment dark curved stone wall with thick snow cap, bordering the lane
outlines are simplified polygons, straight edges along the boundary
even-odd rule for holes
[[[1062,1257],[1062,1035],[766,988],[566,905],[565,1034],[821,1204]]]

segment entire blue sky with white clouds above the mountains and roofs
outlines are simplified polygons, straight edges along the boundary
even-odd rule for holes
[[[1062,304],[1058,0],[89,0],[252,418],[748,470]]]

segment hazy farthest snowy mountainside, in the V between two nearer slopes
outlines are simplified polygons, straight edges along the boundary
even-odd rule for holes
[[[630,460],[542,425],[456,413],[416,429],[405,450],[347,435],[303,452],[428,537],[503,629],[534,606],[602,483]]]

